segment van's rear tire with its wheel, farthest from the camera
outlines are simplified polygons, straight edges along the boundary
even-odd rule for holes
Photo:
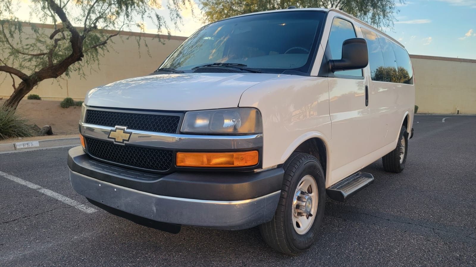
[[[408,133],[407,127],[402,126],[398,136],[397,147],[390,153],[382,157],[384,170],[387,172],[402,172],[407,162],[408,154]]]

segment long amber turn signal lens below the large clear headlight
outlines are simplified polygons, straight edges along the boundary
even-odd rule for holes
[[[258,164],[258,151],[231,153],[177,152],[178,167],[247,167]]]

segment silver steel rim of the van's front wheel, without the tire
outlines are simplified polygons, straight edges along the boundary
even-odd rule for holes
[[[317,183],[311,175],[299,181],[293,200],[293,226],[300,235],[311,228],[317,211]]]

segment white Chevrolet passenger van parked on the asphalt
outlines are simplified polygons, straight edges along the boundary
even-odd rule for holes
[[[339,10],[220,20],[153,74],[88,92],[71,185],[142,225],[259,226],[297,254],[318,238],[326,193],[346,201],[379,158],[404,169],[413,83],[401,44]]]

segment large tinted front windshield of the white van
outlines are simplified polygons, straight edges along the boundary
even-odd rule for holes
[[[195,32],[160,67],[191,72],[221,62],[270,73],[307,73],[324,15],[284,11],[221,20]]]

